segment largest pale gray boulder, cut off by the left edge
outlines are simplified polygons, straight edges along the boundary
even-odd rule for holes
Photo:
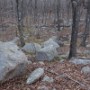
[[[22,75],[27,64],[27,57],[15,43],[0,42],[0,83]]]

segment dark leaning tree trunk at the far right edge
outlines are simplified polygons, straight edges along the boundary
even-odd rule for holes
[[[90,34],[90,0],[88,0],[87,3],[87,14],[86,14],[86,26],[85,26],[85,31],[83,34],[83,39],[81,42],[81,46],[85,47],[86,46],[86,40]]]

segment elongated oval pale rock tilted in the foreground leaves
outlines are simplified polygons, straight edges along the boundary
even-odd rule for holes
[[[43,68],[37,68],[36,70],[34,70],[30,76],[27,79],[27,84],[32,84],[34,82],[36,82],[38,79],[40,79],[44,74],[44,69]]]

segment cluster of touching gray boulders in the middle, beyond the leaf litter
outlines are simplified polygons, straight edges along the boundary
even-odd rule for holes
[[[37,43],[26,43],[22,48],[26,53],[35,54],[36,60],[51,61],[58,56],[57,49],[60,47],[60,41],[56,36],[43,42],[41,45]]]

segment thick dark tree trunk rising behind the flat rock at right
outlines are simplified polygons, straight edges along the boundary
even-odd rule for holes
[[[80,10],[79,10],[79,1],[71,0],[72,3],[72,33],[71,33],[71,43],[70,43],[70,53],[69,59],[72,57],[76,57],[77,54],[77,37],[78,37],[78,29],[79,29],[79,20],[80,20]]]

